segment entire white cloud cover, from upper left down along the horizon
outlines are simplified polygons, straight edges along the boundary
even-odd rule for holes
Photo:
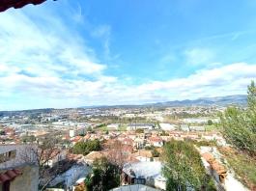
[[[256,79],[256,65],[237,63],[214,65],[184,78],[126,83],[106,75],[107,66],[58,15],[37,16],[21,11],[0,15],[0,110],[245,94],[247,84]],[[104,25],[94,35],[107,40],[110,29]],[[213,53],[191,49],[186,56],[196,65],[208,63]]]

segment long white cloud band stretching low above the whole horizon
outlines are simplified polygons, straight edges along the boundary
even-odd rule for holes
[[[55,107],[145,103],[202,96],[245,94],[250,80],[256,79],[255,70],[256,65],[238,63],[221,68],[199,70],[185,78],[153,81],[138,86],[125,85],[111,76],[104,76],[97,81],[88,81],[12,74],[8,77],[1,77],[0,92],[14,90],[20,95],[43,95],[46,100],[55,100],[52,103]],[[72,104],[75,100],[77,105],[69,105],[71,100]],[[44,107],[46,106],[51,105]]]

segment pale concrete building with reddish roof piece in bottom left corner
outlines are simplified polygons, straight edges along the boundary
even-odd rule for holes
[[[36,149],[34,145],[0,146],[0,191],[38,190]]]

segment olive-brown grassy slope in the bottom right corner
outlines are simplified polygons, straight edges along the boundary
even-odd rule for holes
[[[256,158],[237,150],[219,149],[225,156],[229,166],[235,171],[237,177],[244,185],[253,190],[256,188]]]

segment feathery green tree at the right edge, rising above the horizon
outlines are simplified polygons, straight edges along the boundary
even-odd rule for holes
[[[220,115],[222,134],[226,141],[237,149],[256,155],[256,88],[248,86],[248,107],[244,110],[229,107]]]

